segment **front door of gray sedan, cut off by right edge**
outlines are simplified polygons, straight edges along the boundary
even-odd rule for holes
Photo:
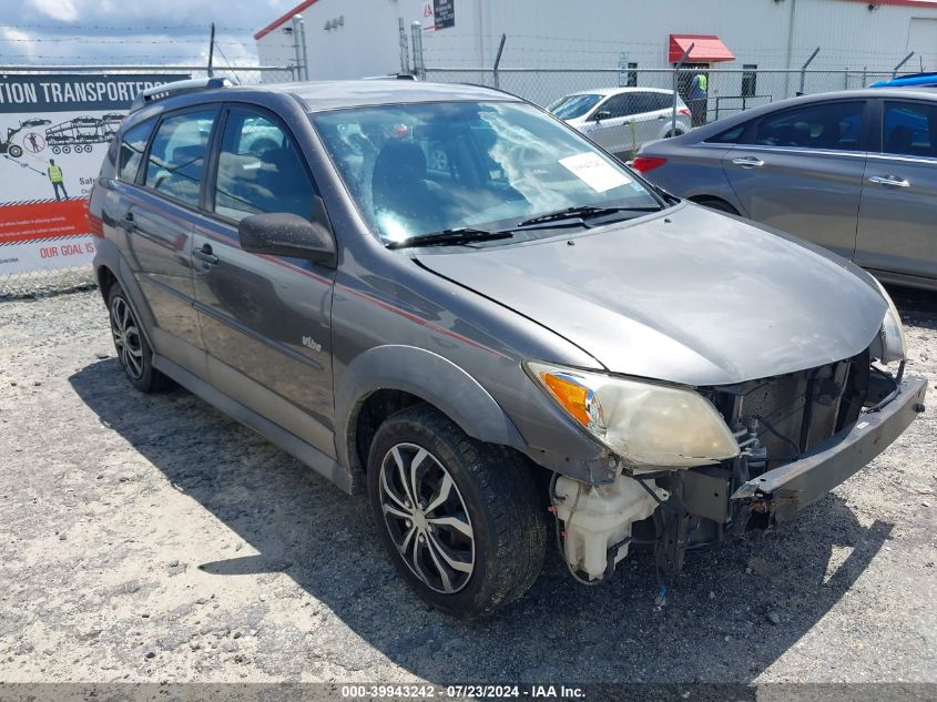
[[[865,167],[856,263],[937,279],[937,103],[885,100]]]

